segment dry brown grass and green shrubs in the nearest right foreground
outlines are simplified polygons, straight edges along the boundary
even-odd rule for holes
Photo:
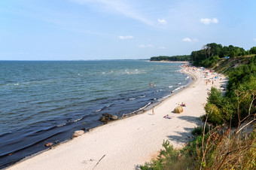
[[[141,165],[142,170],[155,169],[255,169],[256,132],[232,135],[230,130],[218,128],[194,129],[194,139],[181,150],[175,150],[169,141],[163,141],[163,150],[157,159]],[[205,133],[203,133],[203,131]],[[233,144],[230,144],[230,143]]]

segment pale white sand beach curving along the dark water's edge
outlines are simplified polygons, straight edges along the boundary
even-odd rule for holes
[[[9,169],[136,169],[157,156],[163,140],[169,140],[174,147],[182,147],[191,138],[194,127],[200,125],[207,89],[212,87],[212,83],[206,85],[206,78],[199,69],[190,74],[197,77],[194,83],[154,107],[154,115],[149,110],[99,126]],[[223,77],[221,82],[219,79],[215,87],[224,83]],[[181,102],[187,105],[184,112],[172,113]],[[163,118],[166,114],[172,119]]]

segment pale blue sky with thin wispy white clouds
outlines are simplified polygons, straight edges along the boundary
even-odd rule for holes
[[[0,60],[148,59],[256,46],[255,0],[2,0]]]

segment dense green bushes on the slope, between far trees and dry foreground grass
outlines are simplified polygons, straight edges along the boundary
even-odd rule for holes
[[[251,57],[248,65],[231,69],[228,76],[227,92],[221,96],[220,91],[212,88],[205,109],[212,112],[210,123],[237,126],[239,120],[256,113],[256,57]]]

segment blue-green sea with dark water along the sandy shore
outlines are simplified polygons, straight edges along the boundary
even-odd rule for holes
[[[0,168],[101,126],[104,113],[142,114],[190,80],[181,63],[0,61]]]

